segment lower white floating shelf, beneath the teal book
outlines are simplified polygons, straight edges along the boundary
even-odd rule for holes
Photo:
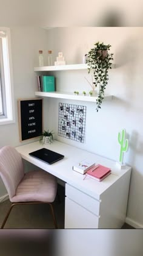
[[[52,91],[50,93],[45,93],[44,91],[36,91],[35,92],[36,96],[41,96],[41,97],[50,97],[50,98],[59,98],[59,99],[73,99],[76,101],[89,101],[89,102],[96,102],[96,99],[98,97],[96,96],[82,96],[82,95],[74,95],[73,93],[65,93],[61,91]],[[111,100],[113,96],[108,95],[105,96],[105,99]]]

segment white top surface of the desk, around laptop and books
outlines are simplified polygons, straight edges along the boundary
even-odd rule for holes
[[[59,154],[65,155],[65,157],[62,160],[59,160],[59,162],[48,165],[47,163],[28,155],[28,153],[41,148],[50,149],[58,152]],[[19,146],[16,148],[16,150],[21,154],[22,158],[28,162],[50,172],[59,179],[64,180],[64,182],[67,182],[73,187],[78,188],[79,190],[95,197],[98,200],[101,198],[101,194],[104,193],[104,191],[115,183],[116,180],[118,180],[122,175],[124,175],[125,172],[131,171],[131,167],[129,166],[126,166],[125,169],[120,170],[116,167],[116,162],[112,160],[100,157],[99,155],[91,154],[90,152],[75,148],[56,140],[53,141],[52,144],[48,145],[42,145],[39,143],[39,141],[36,141],[24,146]],[[102,180],[102,182],[98,182],[90,177],[86,177],[86,179],[83,180],[84,176],[73,171],[72,168],[74,163],[84,160],[85,158],[93,159],[97,164],[99,163],[111,168],[111,174]]]

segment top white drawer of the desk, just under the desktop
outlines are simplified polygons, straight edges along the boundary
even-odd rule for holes
[[[67,183],[65,184],[65,196],[67,196],[69,199],[76,202],[77,204],[81,205],[91,213],[99,216],[100,202],[93,197],[88,196],[87,194],[83,193],[80,190],[77,190],[76,188],[68,185]]]

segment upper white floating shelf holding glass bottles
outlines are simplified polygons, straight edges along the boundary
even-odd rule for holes
[[[112,64],[112,68],[115,68],[115,64]],[[87,69],[87,64],[38,66],[34,68],[34,71],[60,71],[60,70],[79,70],[79,69]]]

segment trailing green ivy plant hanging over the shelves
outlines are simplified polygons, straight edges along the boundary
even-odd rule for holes
[[[93,70],[95,87],[99,85],[98,99],[96,99],[96,110],[98,112],[101,108],[102,100],[104,99],[104,90],[108,84],[108,70],[111,69],[111,60],[113,60],[113,54],[110,54],[110,44],[95,43],[95,48],[90,49],[86,63],[88,65],[88,74]]]

